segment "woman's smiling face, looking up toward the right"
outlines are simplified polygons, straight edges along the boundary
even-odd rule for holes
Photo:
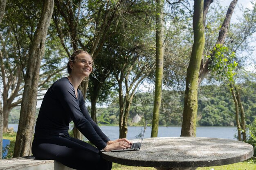
[[[71,74],[76,76],[88,77],[92,72],[92,58],[86,53],[76,56],[74,63],[70,63]]]

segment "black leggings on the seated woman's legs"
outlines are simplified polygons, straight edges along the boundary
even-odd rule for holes
[[[37,159],[54,159],[77,170],[111,170],[112,168],[112,162],[103,159],[97,148],[72,137],[34,139],[32,153]]]

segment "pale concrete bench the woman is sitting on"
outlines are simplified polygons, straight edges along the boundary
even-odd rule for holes
[[[2,159],[0,170],[75,170],[54,160],[38,160],[33,156]]]

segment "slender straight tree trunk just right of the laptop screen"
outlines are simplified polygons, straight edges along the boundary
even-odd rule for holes
[[[164,71],[164,0],[157,0],[157,15],[156,15],[156,70],[155,70],[155,100],[152,119],[151,137],[157,137],[159,125],[159,109],[162,99],[162,80]]]

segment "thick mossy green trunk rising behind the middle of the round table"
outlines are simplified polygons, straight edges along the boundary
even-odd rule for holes
[[[198,74],[204,50],[203,9],[204,1],[195,0],[193,14],[194,43],[189,67],[187,68],[181,136],[195,137],[196,135],[196,115],[198,110]]]

